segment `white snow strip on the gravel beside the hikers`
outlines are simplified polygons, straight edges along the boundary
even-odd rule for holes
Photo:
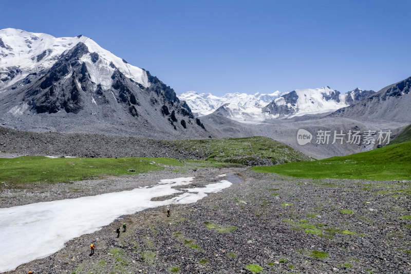
[[[204,188],[183,189],[186,192],[171,199],[151,200],[153,197],[181,192],[172,187],[191,184],[193,179],[194,177],[166,179],[158,185],[130,191],[2,208],[0,272],[44,258],[63,248],[67,241],[99,230],[120,215],[170,204],[195,203],[208,193],[231,186],[231,182],[221,180]],[[90,244],[84,243],[84,246]],[[98,242],[94,244],[98,247]]]

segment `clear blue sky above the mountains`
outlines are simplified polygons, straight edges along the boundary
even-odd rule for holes
[[[411,76],[411,1],[6,1],[0,29],[84,34],[177,94],[329,85],[379,90]]]

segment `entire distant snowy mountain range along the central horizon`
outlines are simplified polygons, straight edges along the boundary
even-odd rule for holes
[[[241,122],[252,122],[331,112],[356,104],[374,93],[373,90],[356,88],[341,94],[338,90],[326,86],[297,89],[289,93],[229,93],[221,97],[185,92],[178,97],[185,100],[198,116],[214,113]]]

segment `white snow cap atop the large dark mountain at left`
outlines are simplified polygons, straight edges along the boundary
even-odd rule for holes
[[[50,68],[62,53],[78,43],[84,43],[88,48],[89,53],[81,60],[86,63],[91,75],[94,75],[93,80],[96,84],[101,83],[103,86],[110,84],[109,77],[106,79],[106,76],[113,74],[115,68],[110,65],[113,63],[126,77],[143,86],[149,85],[143,69],[126,63],[84,35],[55,38],[45,33],[7,28],[0,30],[0,79],[5,79],[0,81],[0,89],[20,81],[30,73]],[[94,52],[98,55],[95,54],[95,58],[91,58],[90,54]],[[98,62],[94,62],[96,59]],[[13,77],[10,77],[10,74]]]

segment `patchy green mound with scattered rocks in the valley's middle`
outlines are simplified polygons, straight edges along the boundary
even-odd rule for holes
[[[241,165],[276,165],[310,160],[303,153],[267,137],[175,140],[172,142],[178,147],[202,151],[208,155],[209,160]]]

